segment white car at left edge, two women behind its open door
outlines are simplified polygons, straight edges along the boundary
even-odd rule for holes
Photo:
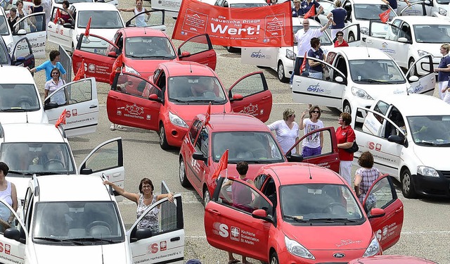
[[[20,78],[18,77],[20,76]],[[68,96],[65,105],[51,102],[53,96]],[[56,123],[65,110],[68,137],[96,132],[98,99],[96,80],[70,82],[49,94],[44,104],[30,71],[23,67],[0,68],[0,122]]]

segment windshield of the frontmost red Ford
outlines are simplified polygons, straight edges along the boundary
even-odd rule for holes
[[[283,218],[288,222],[312,222],[319,219],[330,222],[364,220],[359,201],[356,201],[352,191],[343,184],[285,185],[280,187],[280,201]]]

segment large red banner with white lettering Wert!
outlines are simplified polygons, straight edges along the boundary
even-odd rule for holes
[[[209,34],[221,46],[293,46],[290,1],[274,6],[224,8],[197,0],[181,2],[172,39]]]

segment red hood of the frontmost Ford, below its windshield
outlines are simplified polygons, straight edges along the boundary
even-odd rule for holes
[[[283,222],[281,230],[309,251],[367,249],[373,239],[372,227],[368,220],[362,225],[347,226],[300,226]]]

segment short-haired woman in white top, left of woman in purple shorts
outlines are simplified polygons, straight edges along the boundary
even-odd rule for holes
[[[294,146],[295,142],[299,139],[300,130],[295,120],[295,111],[291,108],[286,109],[283,112],[283,120],[278,120],[267,127],[269,130],[276,132],[276,141],[280,144],[283,153]],[[299,146],[295,146],[295,149],[291,153],[298,153]]]

